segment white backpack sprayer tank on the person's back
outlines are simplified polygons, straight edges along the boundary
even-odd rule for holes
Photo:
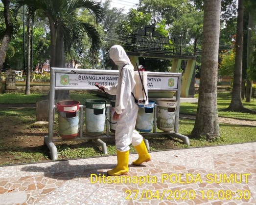
[[[148,104],[147,97],[147,72],[145,72],[144,67],[140,65],[137,71],[134,71],[134,80],[136,82],[134,88],[134,96],[138,100],[138,104]]]

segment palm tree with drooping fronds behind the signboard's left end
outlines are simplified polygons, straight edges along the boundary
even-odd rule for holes
[[[72,43],[81,41],[87,33],[92,49],[99,48],[100,35],[94,26],[77,19],[78,9],[88,9],[98,23],[103,18],[103,9],[93,0],[18,0],[20,6],[27,5],[31,14],[37,10],[48,18],[51,36],[51,67],[64,66],[64,51]],[[58,48],[58,49],[56,49]]]

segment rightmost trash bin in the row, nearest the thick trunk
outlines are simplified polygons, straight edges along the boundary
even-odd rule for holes
[[[157,127],[163,131],[174,130],[177,102],[174,100],[157,100]]]

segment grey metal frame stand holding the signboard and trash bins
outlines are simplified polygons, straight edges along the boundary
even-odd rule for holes
[[[76,72],[80,74],[87,74],[87,75],[114,75],[118,76],[118,71],[110,71],[110,70],[88,70],[88,69],[75,69]],[[102,141],[102,139],[108,139],[108,138],[114,138],[114,134],[110,134],[110,123],[106,122],[106,134],[91,137],[83,135],[83,113],[85,105],[79,105],[80,110],[80,116],[79,116],[79,136],[73,139],[54,139],[53,138],[53,122],[54,122],[54,110],[56,108],[55,105],[55,90],[97,90],[94,85],[84,85],[82,83],[73,83],[73,84],[79,84],[78,86],[69,86],[69,85],[59,85],[56,82],[56,74],[57,75],[70,75],[71,70],[68,68],[51,68],[50,69],[50,92],[49,92],[49,120],[48,120],[48,135],[44,138],[44,144],[47,145],[47,147],[50,150],[50,156],[52,160],[58,159],[58,151],[57,147],[55,146],[54,142],[66,142],[66,141],[81,141],[81,140],[93,140],[94,142],[100,144],[102,146],[102,151],[104,154],[107,154],[107,145]],[[73,74],[75,75],[75,74]],[[146,144],[147,149],[149,149],[149,143],[148,140],[146,140],[144,137],[149,135],[169,135],[174,138],[178,138],[182,140],[184,143],[186,143],[189,146],[189,139],[187,136],[179,134],[178,133],[178,126],[179,126],[179,112],[180,112],[180,94],[181,94],[181,73],[160,73],[160,72],[148,72],[148,77],[173,77],[177,79],[177,86],[174,88],[148,88],[148,90],[156,90],[156,91],[171,91],[176,92],[176,115],[175,115],[175,124],[174,124],[174,130],[173,131],[163,131],[163,132],[157,132],[157,126],[156,126],[156,114],[157,114],[157,105],[155,105],[155,111],[154,111],[154,127],[153,132],[151,133],[140,133],[143,136],[143,140]],[[83,80],[81,80],[83,81]],[[71,83],[72,84],[72,83]],[[107,116],[110,116],[110,109],[111,105],[106,105],[106,111]]]

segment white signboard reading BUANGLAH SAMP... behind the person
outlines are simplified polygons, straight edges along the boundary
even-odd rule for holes
[[[99,75],[99,74],[73,74],[56,73],[55,87],[95,87],[97,82],[100,86],[111,86],[117,83],[118,75]],[[148,89],[177,89],[178,77],[147,76]]]

